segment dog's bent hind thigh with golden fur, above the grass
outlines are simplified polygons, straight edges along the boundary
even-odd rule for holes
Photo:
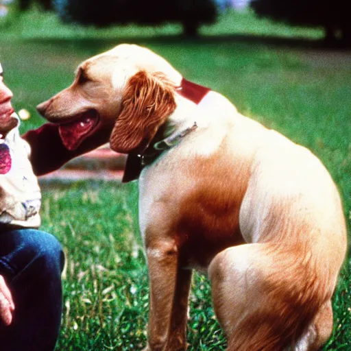
[[[213,302],[228,350],[280,351],[298,342],[335,289],[335,269],[315,255],[302,247],[256,243],[214,258]]]

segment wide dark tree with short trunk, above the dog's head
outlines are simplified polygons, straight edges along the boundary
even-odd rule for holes
[[[200,25],[217,18],[213,0],[54,0],[54,4],[64,21],[99,27],[178,22],[187,36],[197,35]]]

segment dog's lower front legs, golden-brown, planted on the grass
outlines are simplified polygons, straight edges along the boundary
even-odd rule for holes
[[[149,266],[148,345],[144,351],[186,350],[191,271],[180,269],[172,242],[147,248]]]

